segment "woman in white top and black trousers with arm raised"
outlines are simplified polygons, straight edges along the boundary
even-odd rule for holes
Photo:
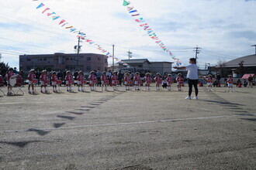
[[[191,58],[189,59],[189,66],[182,66],[182,67],[174,67],[175,69],[182,69],[182,70],[187,70],[188,75],[187,78],[189,80],[189,96],[185,97],[185,99],[191,100],[191,94],[192,94],[192,87],[195,88],[195,97],[193,99],[198,100],[198,87],[197,84],[199,82],[199,75],[198,75],[198,69],[199,67],[196,65],[196,59]]]

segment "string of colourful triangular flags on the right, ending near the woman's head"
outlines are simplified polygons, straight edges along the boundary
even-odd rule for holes
[[[137,11],[137,9],[134,8],[134,6],[131,5],[131,3],[126,0],[123,0],[123,6],[126,6],[129,14],[132,17],[134,17],[135,22],[137,22],[140,25],[140,27],[147,32],[147,35],[150,36],[150,39],[153,39],[154,42],[157,44],[157,46],[163,49],[165,53],[168,53],[168,55],[175,60],[177,65],[182,65],[182,62],[178,58],[176,58],[176,56],[174,56],[173,53],[171,53],[171,50],[164,45],[164,42],[161,41],[161,39],[157,36],[157,34],[153,31],[153,29],[147,24],[145,19],[140,16],[140,13]]]

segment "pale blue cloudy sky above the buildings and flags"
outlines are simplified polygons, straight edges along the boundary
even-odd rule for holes
[[[128,59],[175,62],[147,36],[129,15],[123,0],[0,0],[1,61],[19,66],[19,55],[74,53],[78,39],[59,26],[61,19],[86,33],[89,39]],[[43,2],[43,8],[36,6]],[[255,0],[130,0],[147,24],[171,52],[186,65],[201,47],[198,63],[212,66],[255,53]],[[50,8],[61,18],[53,21],[42,14]],[[81,53],[101,53],[95,46],[82,44]],[[109,59],[109,63],[111,63]]]

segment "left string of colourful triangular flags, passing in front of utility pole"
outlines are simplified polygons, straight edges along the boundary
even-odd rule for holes
[[[37,1],[37,0],[33,0]],[[42,11],[42,14],[47,12],[47,16],[52,16],[53,21],[57,20],[57,19],[61,19],[60,15],[57,15],[56,12],[52,11],[50,8],[46,7],[45,4],[43,4],[42,2],[40,3],[40,5],[38,5],[36,7],[36,9],[39,8],[44,8]],[[99,49],[99,51],[101,51],[102,53],[104,53],[106,56],[112,57],[111,53],[109,53],[106,49],[104,49],[102,46],[99,46],[98,43],[94,42],[92,39],[88,39],[86,34],[84,32],[79,31],[78,29],[76,29],[74,26],[72,26],[69,22],[67,22],[65,19],[61,19],[61,21],[59,22],[58,25],[61,25],[61,27],[63,27],[64,29],[69,29],[70,32],[72,33],[76,33],[77,38],[82,39],[81,41],[85,41],[90,45],[93,45],[96,47],[96,49]],[[117,58],[115,58],[116,60],[118,60]]]

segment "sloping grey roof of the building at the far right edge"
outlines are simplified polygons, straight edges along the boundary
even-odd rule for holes
[[[242,56],[226,63],[227,67],[238,66],[240,61],[244,61],[244,66],[256,66],[256,55]]]

